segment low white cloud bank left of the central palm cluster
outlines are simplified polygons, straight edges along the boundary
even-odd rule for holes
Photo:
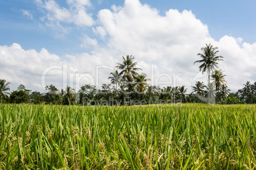
[[[109,51],[108,51],[109,53]],[[99,56],[107,57],[105,62]],[[113,67],[108,66],[113,58],[104,49],[93,54],[82,53],[60,57],[51,54],[47,49],[41,51],[23,49],[20,44],[0,46],[0,79],[11,82],[11,90],[19,84],[27,88],[43,91],[46,85],[53,84],[59,89],[66,86],[76,91],[84,84],[94,84],[101,87]]]

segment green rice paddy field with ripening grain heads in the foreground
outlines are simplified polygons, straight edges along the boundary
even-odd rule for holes
[[[0,169],[255,166],[255,105],[0,105]]]

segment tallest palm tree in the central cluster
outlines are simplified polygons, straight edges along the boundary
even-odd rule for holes
[[[123,80],[127,83],[127,89],[129,92],[133,90],[132,80],[138,75],[136,71],[141,70],[136,67],[137,62],[134,62],[134,56],[127,55],[126,58],[122,56],[123,62],[117,63],[117,68],[121,70]]]

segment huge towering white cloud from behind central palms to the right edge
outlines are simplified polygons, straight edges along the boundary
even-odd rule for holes
[[[124,6],[99,11],[98,20],[100,26],[96,30],[100,28],[104,36],[109,36],[108,49],[116,51],[115,58],[135,55],[136,60],[143,61],[138,65],[153,78],[152,84],[157,84],[157,77],[162,76],[165,81],[171,79],[171,86],[185,85],[190,89],[199,72],[199,65],[194,65],[200,59],[197,53],[206,43],[217,46],[219,55],[224,56],[225,62],[219,62],[219,66],[226,70],[227,84],[233,91],[242,88],[246,80],[256,80],[256,43],[248,44],[231,36],[216,41],[192,11],[169,10],[160,16],[156,9],[138,0],[126,0]],[[206,81],[207,77],[201,75],[199,81]]]

